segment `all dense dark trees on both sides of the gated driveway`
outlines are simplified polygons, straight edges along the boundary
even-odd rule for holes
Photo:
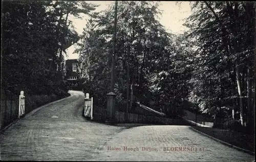
[[[106,107],[115,11],[112,4],[92,13],[95,7],[85,1],[4,1],[2,96],[63,93],[63,55],[80,39],[84,90]],[[254,130],[255,3],[192,2],[191,9],[184,24],[189,30],[175,35],[159,22],[159,2],[118,2],[116,108],[127,104],[132,111],[140,102],[169,117],[190,109]],[[91,17],[79,36],[68,17],[81,13]]]

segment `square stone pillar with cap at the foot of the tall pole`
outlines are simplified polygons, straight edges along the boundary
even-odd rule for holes
[[[115,99],[116,99],[116,94],[114,92],[109,92],[106,94],[108,97],[107,101],[107,119],[106,123],[115,123]]]

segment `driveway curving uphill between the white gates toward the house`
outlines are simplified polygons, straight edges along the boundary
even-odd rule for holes
[[[123,129],[84,120],[83,92],[70,94],[1,134],[1,160],[89,160],[98,154],[98,147]]]

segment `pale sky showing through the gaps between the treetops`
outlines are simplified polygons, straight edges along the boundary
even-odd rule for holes
[[[114,1],[89,1],[90,3],[99,5],[96,8],[96,12],[103,11],[108,8],[108,6]],[[176,5],[175,1],[161,1],[159,9],[162,11],[162,15],[159,15],[160,23],[166,28],[168,32],[175,34],[183,33],[186,30],[186,27],[182,26],[184,23],[184,18],[188,17],[191,14],[191,9],[189,2],[183,1],[180,2],[180,5]],[[73,21],[75,30],[78,34],[81,34],[83,28],[86,26],[87,19],[89,16],[84,15],[82,19],[77,19],[70,16],[70,20]],[[73,54],[75,47],[67,49],[68,57],[65,59],[77,59],[78,54]]]

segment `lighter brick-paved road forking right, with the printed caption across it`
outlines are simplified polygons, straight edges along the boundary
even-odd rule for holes
[[[95,160],[100,161],[253,161],[254,159],[254,156],[218,143],[191,130],[189,126],[171,125],[140,126],[123,130],[102,147],[97,157]]]

